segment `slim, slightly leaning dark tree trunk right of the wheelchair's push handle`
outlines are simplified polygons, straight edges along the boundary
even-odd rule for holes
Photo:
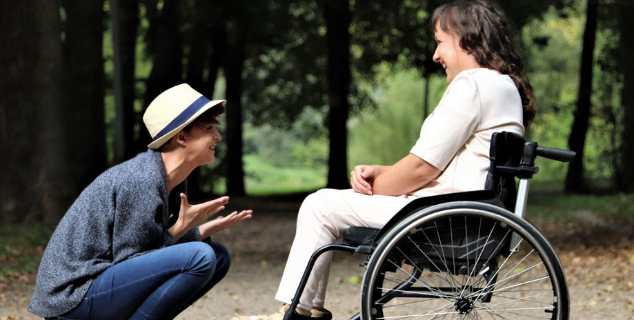
[[[577,112],[575,121],[568,137],[568,146],[577,152],[577,157],[571,161],[566,175],[566,192],[582,192],[584,186],[584,146],[586,132],[590,120],[590,97],[592,93],[592,69],[595,49],[595,34],[597,31],[597,0],[588,0],[586,8],[586,30],[581,57],[581,75],[579,77],[579,94],[577,98]]]

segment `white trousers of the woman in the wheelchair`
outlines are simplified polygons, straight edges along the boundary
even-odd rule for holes
[[[381,228],[412,200],[406,197],[369,196],[353,192],[352,189],[322,189],[310,194],[299,208],[295,239],[275,299],[291,303],[315,250],[341,239],[348,227]],[[333,252],[328,251],[315,262],[299,299],[299,308],[310,310],[324,307],[332,257]]]

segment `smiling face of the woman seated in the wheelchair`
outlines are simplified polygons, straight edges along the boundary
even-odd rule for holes
[[[472,54],[460,47],[460,37],[457,34],[442,30],[439,23],[436,23],[434,37],[437,46],[433,59],[445,70],[447,83],[451,83],[453,78],[464,70],[482,68]]]

